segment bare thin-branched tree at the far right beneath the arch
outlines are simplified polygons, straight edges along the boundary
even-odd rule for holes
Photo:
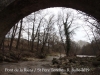
[[[86,22],[86,26],[88,26],[90,28],[90,31],[91,31],[91,33],[93,35],[93,38],[94,38],[94,41],[95,41],[95,44],[96,44],[96,48],[98,50],[100,50],[99,44],[98,44],[98,40],[97,40],[97,39],[100,39],[100,38],[97,38],[97,37],[99,37],[98,35],[99,35],[99,31],[100,31],[100,26],[99,26],[100,24],[93,17],[87,16],[87,15],[84,15],[84,16],[85,17],[84,17],[83,20]],[[85,28],[84,28],[84,30],[85,30]],[[88,34],[88,32],[86,30],[85,30],[85,32],[87,33],[88,38],[89,38],[89,40],[91,42],[91,48],[94,51],[94,53],[96,54],[96,51],[95,51],[96,48],[93,45],[93,40],[90,39],[90,36],[89,36],[89,34]]]

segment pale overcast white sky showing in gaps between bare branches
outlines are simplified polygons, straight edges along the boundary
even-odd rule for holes
[[[58,16],[58,13],[62,13],[62,9],[61,8],[48,8],[48,9],[44,9],[44,10],[41,10],[42,11],[42,15],[46,14],[48,12],[48,14],[54,14],[55,17],[57,18]],[[64,9],[64,13],[66,15],[66,13],[72,13],[72,15],[74,15],[74,23],[73,23],[73,27],[74,26],[78,26],[78,28],[75,30],[75,34],[71,37],[71,39],[73,41],[79,41],[79,40],[82,40],[82,41],[86,41],[86,42],[90,42],[93,38],[93,36],[91,35],[91,31],[89,29],[89,27],[86,26],[86,22],[84,22],[84,16],[82,14],[78,14],[78,12],[74,9],[71,9],[71,8],[65,8]],[[48,15],[46,18],[48,19],[48,17],[50,16]],[[80,18],[81,17],[81,18]],[[84,27],[84,28],[83,28]],[[56,27],[56,30],[58,28]],[[87,33],[89,35],[89,37],[87,36]],[[27,38],[27,34],[26,33],[23,33],[25,38]],[[26,35],[26,36],[25,36]],[[89,39],[90,38],[90,39]]]

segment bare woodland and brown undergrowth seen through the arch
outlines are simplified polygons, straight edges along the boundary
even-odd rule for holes
[[[37,11],[21,19],[2,40],[0,61],[18,61],[27,57],[45,58],[48,54],[55,52],[65,53],[66,56],[99,55],[99,24],[95,20],[90,21],[90,17],[84,17],[94,39],[90,39],[91,42],[88,45],[80,48],[72,40],[78,28],[75,24],[76,17],[71,14],[71,11],[64,12],[65,10],[62,9],[56,17],[49,12],[43,14],[42,11]],[[89,36],[88,32],[86,33]]]

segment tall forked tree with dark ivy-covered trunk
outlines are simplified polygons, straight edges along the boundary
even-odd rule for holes
[[[69,51],[71,48],[71,36],[74,34],[74,30],[77,29],[78,27],[74,27],[72,30],[72,25],[73,25],[73,21],[74,21],[74,17],[71,15],[71,12],[66,13],[66,15],[64,14],[64,11],[62,10],[63,14],[60,15],[61,17],[61,24],[59,25],[59,33],[60,33],[60,37],[62,42],[64,42],[64,40],[62,39],[62,32],[61,32],[61,26],[63,26],[63,31],[64,31],[64,35],[65,35],[65,45],[63,44],[64,48],[65,48],[65,53],[67,56],[69,56]],[[59,18],[59,17],[58,17]]]

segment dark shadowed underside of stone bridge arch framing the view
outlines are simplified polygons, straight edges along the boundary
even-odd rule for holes
[[[49,7],[73,8],[100,21],[100,0],[0,0],[0,43],[20,19]]]

